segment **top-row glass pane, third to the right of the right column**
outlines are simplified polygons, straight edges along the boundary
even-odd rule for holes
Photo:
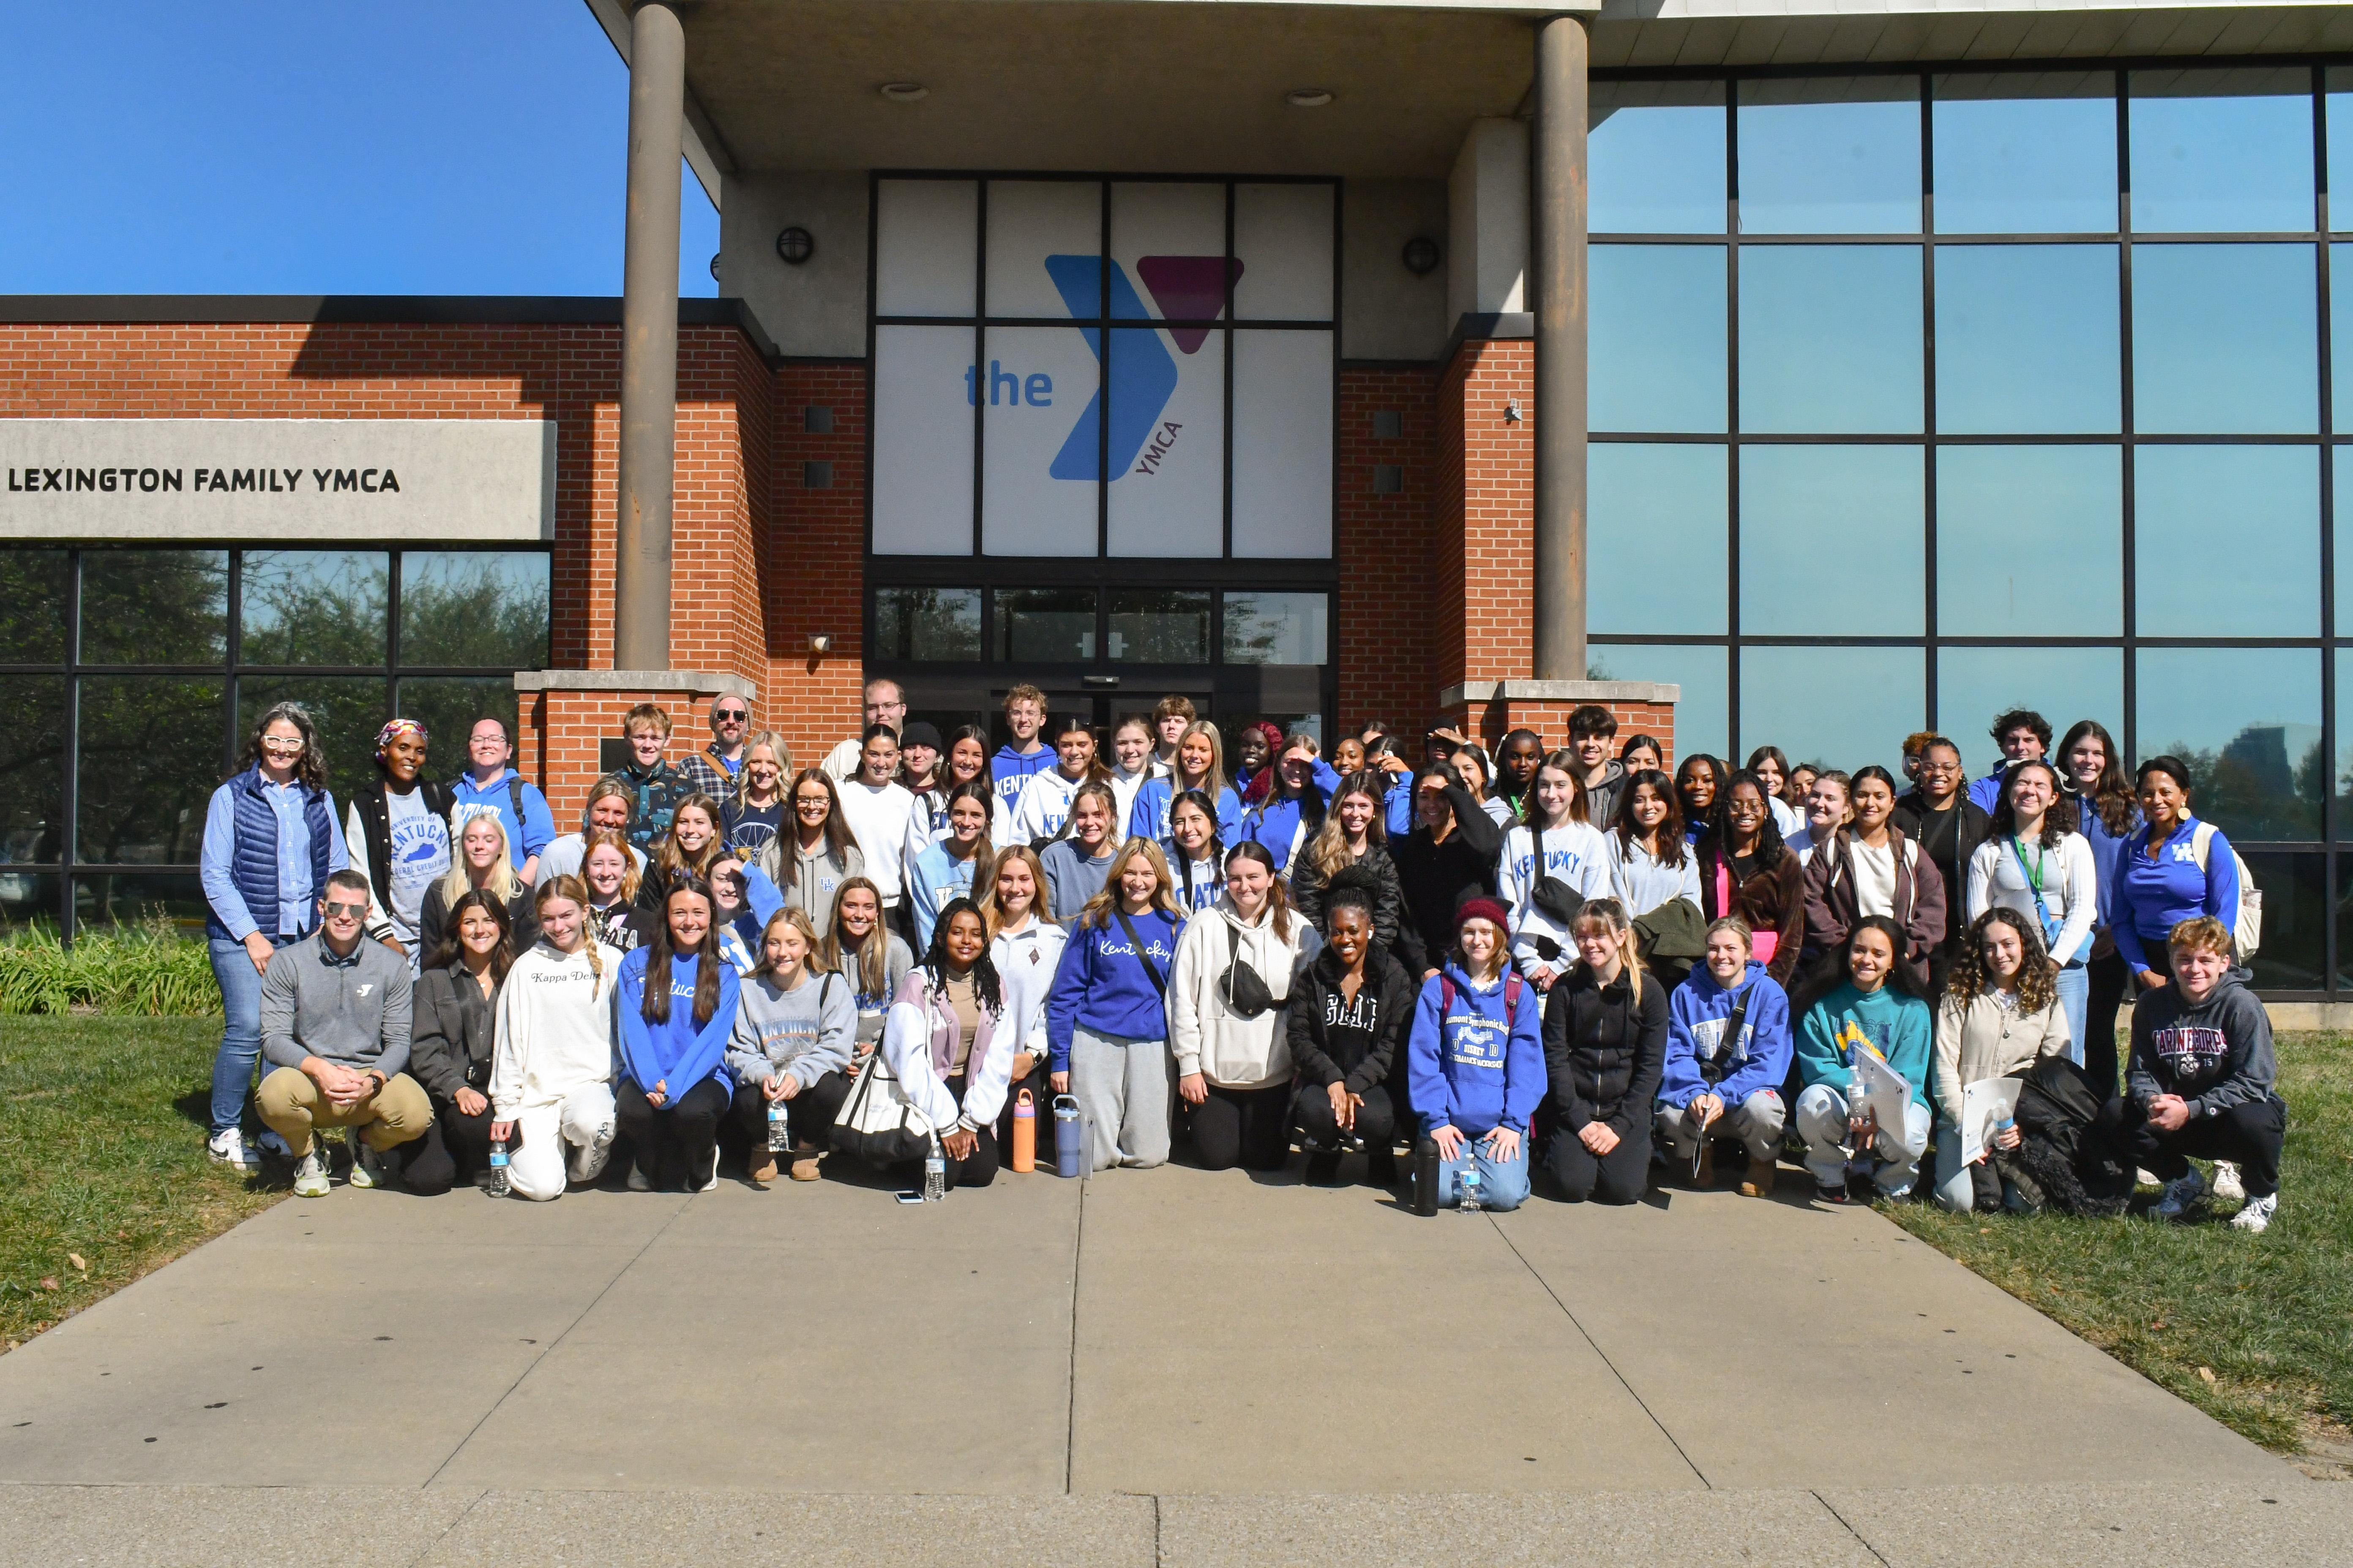
[[[2115,230],[2115,78],[2106,71],[1937,78],[1937,230]]]

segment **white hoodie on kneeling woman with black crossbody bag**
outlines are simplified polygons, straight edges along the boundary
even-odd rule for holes
[[[1292,994],[1299,961],[1322,947],[1315,926],[1299,919],[1299,910],[1292,910],[1289,926],[1285,940],[1264,910],[1257,924],[1245,922],[1231,896],[1186,922],[1176,938],[1176,961],[1169,964],[1169,1051],[1179,1077],[1198,1072],[1219,1088],[1289,1081],[1292,1039],[1280,1004]],[[1259,971],[1278,1006],[1257,1018],[1226,1006],[1226,964],[1235,961]]]

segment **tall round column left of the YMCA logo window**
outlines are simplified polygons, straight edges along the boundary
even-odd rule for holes
[[[1579,66],[1579,92],[1584,68]],[[621,508],[612,665],[671,665],[671,484],[678,461],[678,169],[687,35],[640,5],[628,47],[628,233],[621,252]]]

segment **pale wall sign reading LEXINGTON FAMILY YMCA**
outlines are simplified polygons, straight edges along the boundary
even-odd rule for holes
[[[16,538],[551,538],[555,423],[9,418]]]

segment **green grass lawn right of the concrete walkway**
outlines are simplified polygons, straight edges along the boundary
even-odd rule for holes
[[[2344,1458],[2353,1039],[2282,1037],[2280,1093],[2280,1213],[2261,1237],[2231,1229],[2228,1211],[2193,1225],[1948,1215],[1934,1204],[1882,1213],[2266,1448]]]

